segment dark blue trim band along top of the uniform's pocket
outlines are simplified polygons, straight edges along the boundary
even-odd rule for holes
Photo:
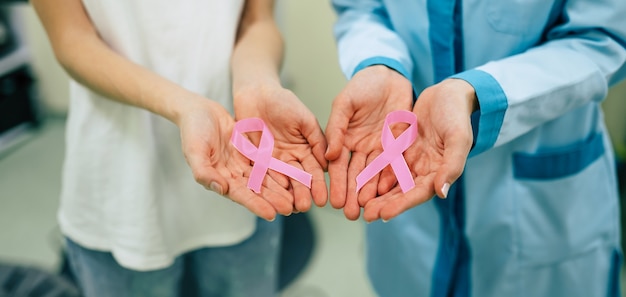
[[[550,180],[575,175],[604,154],[601,133],[565,148],[537,153],[513,154],[513,176],[516,179]]]

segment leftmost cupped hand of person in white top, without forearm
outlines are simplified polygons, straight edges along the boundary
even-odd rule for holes
[[[264,180],[262,196],[248,189],[252,165],[230,144],[234,120],[228,111],[206,98],[188,101],[176,124],[196,181],[263,219],[271,221],[276,214],[291,214],[291,194],[273,179]]]

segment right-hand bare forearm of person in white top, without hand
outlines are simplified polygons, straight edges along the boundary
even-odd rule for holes
[[[249,88],[280,86],[283,40],[269,2],[248,3],[242,16],[231,61],[235,99]]]

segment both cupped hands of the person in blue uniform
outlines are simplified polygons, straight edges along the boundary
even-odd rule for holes
[[[445,198],[463,172],[473,140],[470,116],[478,109],[474,88],[446,79],[424,90],[414,106],[412,92],[404,76],[375,65],[360,70],[333,102],[326,127],[330,202],[350,220],[361,208],[366,221],[389,220],[435,195]],[[382,126],[395,110],[417,115],[417,139],[404,153],[416,185],[403,193],[386,167],[357,193],[356,176],[382,152]]]

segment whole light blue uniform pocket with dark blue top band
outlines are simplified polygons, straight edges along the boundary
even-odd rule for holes
[[[520,265],[553,265],[617,242],[619,207],[604,136],[515,153],[512,193]]]

